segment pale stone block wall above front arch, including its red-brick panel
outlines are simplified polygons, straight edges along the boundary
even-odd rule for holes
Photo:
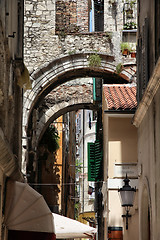
[[[63,10],[63,6],[69,9]],[[62,10],[65,13],[63,16]],[[111,53],[106,34],[84,33],[88,31],[88,0],[25,0],[24,15],[24,57],[30,72],[64,54],[82,51]],[[58,33],[56,27],[60,24],[63,24],[67,31],[69,27],[70,32],[68,31],[68,34],[59,32],[56,35],[55,32]],[[76,27],[79,32],[83,32],[82,35],[75,33]]]

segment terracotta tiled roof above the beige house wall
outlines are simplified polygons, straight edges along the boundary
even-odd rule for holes
[[[103,86],[108,110],[131,110],[137,107],[136,86],[111,85]]]

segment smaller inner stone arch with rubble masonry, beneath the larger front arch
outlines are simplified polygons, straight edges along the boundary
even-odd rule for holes
[[[42,102],[43,107],[40,106],[40,117],[38,118],[36,129],[37,144],[49,124],[61,115],[70,111],[77,111],[80,108],[96,108],[92,99],[93,85],[88,80],[90,79],[83,81],[77,79],[72,84],[62,84],[44,98]]]

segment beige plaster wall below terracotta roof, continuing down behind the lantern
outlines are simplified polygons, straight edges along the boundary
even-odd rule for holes
[[[132,116],[108,117],[108,177],[115,179],[115,163],[137,162],[137,129],[132,125]],[[122,186],[119,186],[119,188]],[[109,216],[108,225],[123,227],[123,240],[138,239],[138,202],[137,196],[134,207],[130,210],[132,217],[129,219],[129,227],[125,229],[125,214],[119,200],[118,189],[108,189]],[[136,193],[138,195],[138,192]]]

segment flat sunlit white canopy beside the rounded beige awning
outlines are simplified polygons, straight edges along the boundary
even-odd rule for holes
[[[55,233],[57,239],[64,238],[92,238],[97,232],[96,228],[53,213]]]

